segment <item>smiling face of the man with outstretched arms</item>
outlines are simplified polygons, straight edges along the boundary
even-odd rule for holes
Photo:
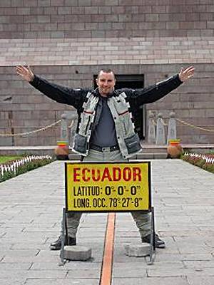
[[[98,85],[98,90],[103,97],[107,97],[108,93],[113,91],[116,79],[112,72],[101,71],[98,78],[96,79],[96,84]]]

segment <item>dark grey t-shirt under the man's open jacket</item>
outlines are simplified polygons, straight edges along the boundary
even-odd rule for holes
[[[117,144],[116,128],[107,105],[108,98],[101,98],[102,111],[96,128],[91,133],[90,143],[100,147],[111,147]]]

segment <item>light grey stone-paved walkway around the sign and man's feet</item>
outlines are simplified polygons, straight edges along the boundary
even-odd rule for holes
[[[98,285],[108,214],[84,214],[78,244],[90,261],[58,266],[49,250],[61,229],[63,162],[0,184],[0,284]],[[166,242],[156,261],[127,257],[123,244],[140,242],[128,213],[117,214],[112,285],[214,284],[214,175],[180,160],[152,161],[156,229]]]

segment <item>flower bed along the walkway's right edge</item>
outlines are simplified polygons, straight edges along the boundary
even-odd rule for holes
[[[214,173],[214,154],[208,153],[205,155],[198,153],[185,152],[182,159],[190,162],[192,165],[203,168],[203,170]]]

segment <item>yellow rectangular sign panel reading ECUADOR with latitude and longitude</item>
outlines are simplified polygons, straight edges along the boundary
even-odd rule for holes
[[[150,162],[66,162],[66,210],[151,208]]]

